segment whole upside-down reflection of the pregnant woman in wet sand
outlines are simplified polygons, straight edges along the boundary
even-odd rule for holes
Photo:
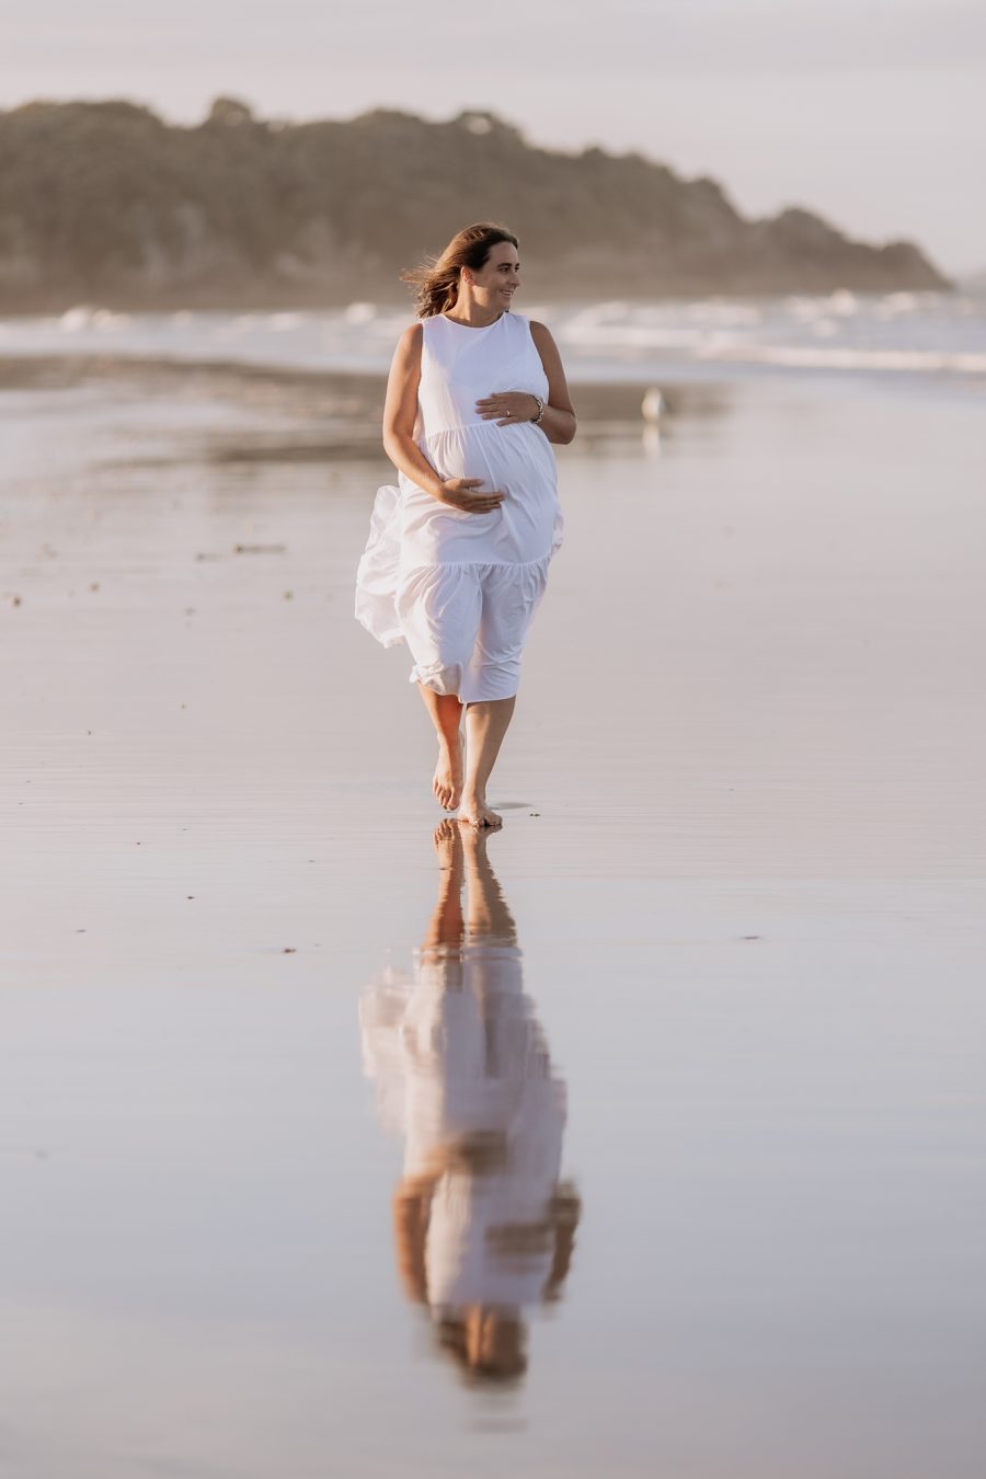
[[[523,994],[485,834],[446,821],[435,840],[442,886],[415,976],[364,997],[364,1055],[384,1120],[405,1134],[393,1198],[405,1291],[470,1377],[503,1380],[526,1367],[525,1306],[559,1297],[572,1256],[565,1086]]]

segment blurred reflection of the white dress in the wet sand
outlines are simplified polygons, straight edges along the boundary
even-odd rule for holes
[[[523,1251],[497,1229],[547,1219],[562,1167],[565,1086],[551,1072],[523,994],[520,951],[472,945],[420,957],[414,981],[384,976],[361,1003],[364,1066],[389,1127],[405,1136],[405,1173],[470,1134],[506,1137],[503,1167],[446,1170],[426,1241],[432,1307],[537,1303],[553,1236]]]

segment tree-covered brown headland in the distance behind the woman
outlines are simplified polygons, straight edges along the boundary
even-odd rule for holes
[[[952,284],[918,246],[809,210],[748,220],[640,154],[528,143],[491,112],[262,120],[231,98],[179,127],[124,101],[0,112],[0,312],[408,302],[401,268],[463,225],[520,237],[531,302],[893,291]]]

